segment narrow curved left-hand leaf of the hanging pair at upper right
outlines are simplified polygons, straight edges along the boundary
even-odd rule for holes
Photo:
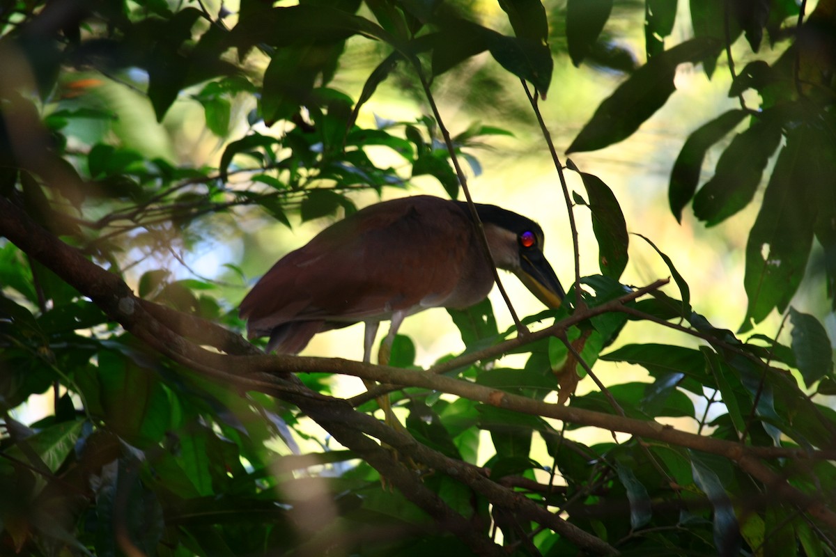
[[[701,125],[688,136],[680,154],[676,157],[673,169],[670,170],[668,200],[670,200],[670,212],[674,214],[676,220],[682,222],[682,209],[694,196],[696,186],[700,182],[706,151],[731,132],[737,124],[740,124],[746,115],[745,110],[729,110],[711,122]]]

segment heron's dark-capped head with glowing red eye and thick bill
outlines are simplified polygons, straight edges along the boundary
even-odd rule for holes
[[[466,204],[460,202],[469,212]],[[563,286],[543,255],[543,229],[523,215],[496,205],[475,204],[497,267],[512,271],[546,306],[560,307]]]

